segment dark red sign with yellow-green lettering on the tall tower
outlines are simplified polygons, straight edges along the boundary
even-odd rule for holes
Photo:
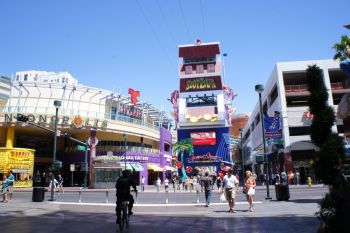
[[[180,79],[180,92],[222,90],[220,76]]]

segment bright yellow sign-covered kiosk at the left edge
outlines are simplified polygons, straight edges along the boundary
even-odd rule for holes
[[[14,187],[32,187],[34,152],[25,148],[0,148],[0,173],[16,175]]]

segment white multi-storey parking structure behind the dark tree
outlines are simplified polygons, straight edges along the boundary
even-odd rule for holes
[[[276,132],[267,132],[267,158],[270,163],[270,174],[286,170],[287,173],[300,173],[301,182],[307,177],[315,178],[315,146],[310,138],[310,125],[313,116],[308,109],[309,92],[306,84],[308,65],[316,64],[323,70],[324,83],[328,90],[328,104],[337,111],[342,96],[350,92],[345,85],[346,76],[339,69],[339,63],[333,60],[313,60],[277,63],[262,93],[262,108],[265,119],[272,119],[278,126]],[[253,90],[252,90],[253,91]],[[258,100],[258,94],[256,94]],[[268,118],[267,118],[268,117]],[[266,120],[264,120],[266,122]],[[265,123],[266,124],[266,123]],[[343,135],[341,119],[333,131]],[[349,138],[344,137],[344,142]],[[250,168],[263,174],[263,146],[259,102],[257,102],[243,131],[246,163]],[[350,175],[349,155],[345,165]]]

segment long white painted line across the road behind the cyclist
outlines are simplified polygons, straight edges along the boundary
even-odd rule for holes
[[[85,205],[85,206],[115,206],[115,204],[110,203],[76,203],[76,202],[49,202],[51,204],[59,205]],[[261,204],[261,201],[254,201],[254,204]],[[237,201],[236,205],[248,204],[246,201]],[[166,206],[204,206],[205,203],[180,203],[180,204],[134,204],[134,206],[139,207],[166,207]],[[212,203],[211,206],[227,205],[227,203]]]

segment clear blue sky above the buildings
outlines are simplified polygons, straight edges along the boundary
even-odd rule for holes
[[[0,1],[0,73],[69,71],[80,83],[141,91],[171,110],[178,50],[218,41],[237,112],[251,112],[255,84],[282,61],[331,59],[350,31],[349,0]]]

